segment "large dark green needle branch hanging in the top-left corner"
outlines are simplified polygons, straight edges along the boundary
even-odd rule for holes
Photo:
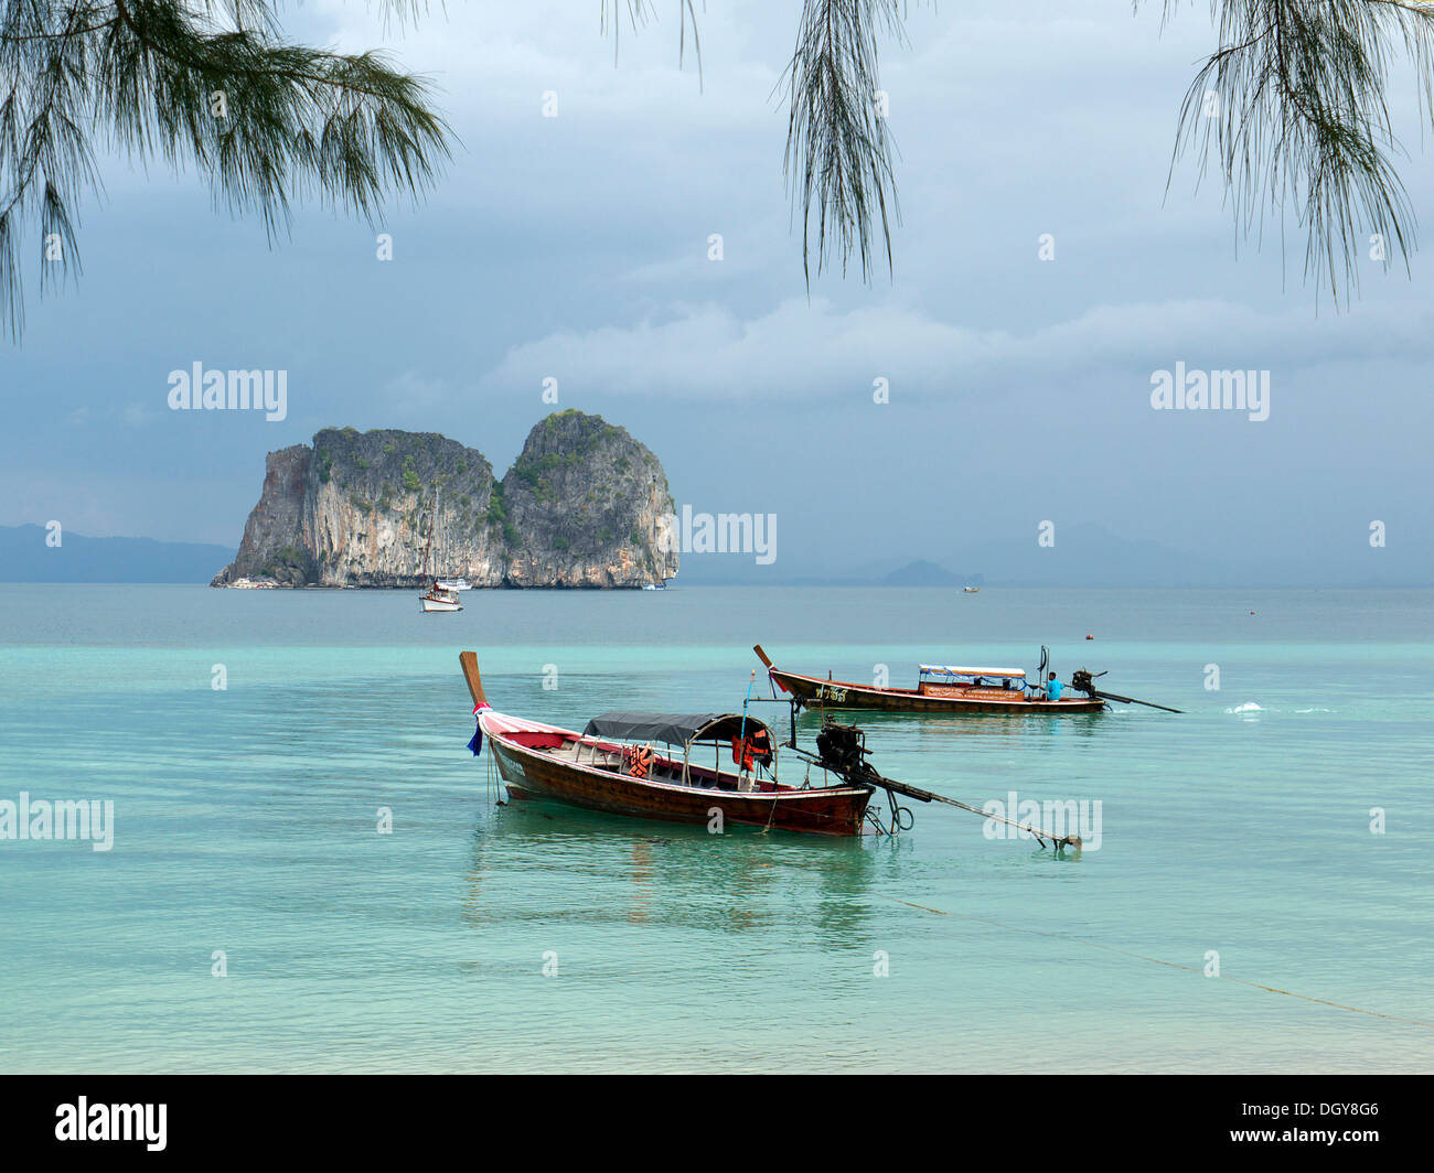
[[[400,14],[410,0],[390,0]],[[315,196],[370,222],[449,156],[429,83],[381,53],[281,39],[275,0],[0,0],[0,318],[23,326],[20,229],[39,219],[42,291],[77,271],[76,209],[96,139],[192,163],[271,238]]]

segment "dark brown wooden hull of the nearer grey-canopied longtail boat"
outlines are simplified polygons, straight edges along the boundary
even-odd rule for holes
[[[724,823],[852,836],[862,833],[866,804],[872,796],[865,787],[849,786],[737,792],[637,779],[621,771],[562,761],[542,749],[521,744],[505,730],[508,718],[492,720],[485,713],[479,721],[489,739],[489,751],[498,761],[498,771],[508,793],[516,800],[551,799],[609,815],[703,825],[711,823],[720,810]],[[584,744],[592,743],[565,730],[554,733],[578,739]],[[658,766],[663,764],[674,769],[681,766],[680,760],[658,759]],[[730,774],[718,777],[734,780]]]

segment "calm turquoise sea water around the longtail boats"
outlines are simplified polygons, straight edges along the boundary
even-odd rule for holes
[[[1431,591],[465,602],[0,586],[0,799],[115,809],[109,852],[0,842],[0,1070],[1434,1068]],[[837,842],[490,803],[459,650],[581,727],[740,708],[759,640],[896,684],[1045,642],[1186,713],[863,720],[892,777],[1098,802],[1078,858],[921,804]]]

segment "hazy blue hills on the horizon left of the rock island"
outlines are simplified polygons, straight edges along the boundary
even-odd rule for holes
[[[0,582],[208,582],[234,558],[228,546],[86,538],[60,532],[49,546],[39,525],[0,525]]]

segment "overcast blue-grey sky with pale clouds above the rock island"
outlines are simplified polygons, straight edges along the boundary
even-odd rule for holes
[[[1428,571],[1434,250],[1412,278],[1364,261],[1341,313],[1304,281],[1296,227],[1283,258],[1278,225],[1236,247],[1193,161],[1166,192],[1215,46],[1205,6],[1163,32],[1159,6],[915,6],[882,59],[893,278],[810,297],[773,96],[799,4],[707,4],[701,89],[675,0],[658,9],[614,67],[597,0],[450,3],[407,32],[357,0],[291,6],[295,39],[430,75],[452,165],[377,229],[300,206],[270,248],[195,176],[109,163],[79,288],[32,298],[0,351],[0,523],[234,546],[267,450],[404,427],[502,473],[555,376],[559,407],[657,452],[678,503],[777,513],[783,575],[840,569],[852,542],[862,562],[981,569],[962,551],[1034,545],[1043,519],[1316,581],[1367,558],[1380,519],[1385,554]],[[1412,110],[1408,70],[1391,99]],[[1401,128],[1428,225],[1431,156]],[[287,370],[288,417],[168,410],[169,371],[196,360]],[[1152,371],[1177,361],[1269,370],[1269,419],[1152,410]]]

